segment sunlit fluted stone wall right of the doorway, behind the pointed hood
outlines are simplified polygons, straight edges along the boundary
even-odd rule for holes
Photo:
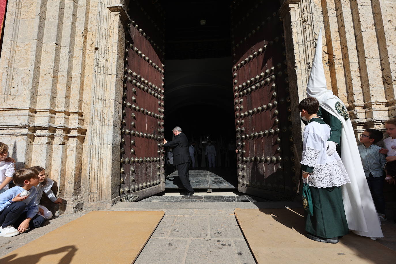
[[[327,86],[346,104],[356,137],[366,128],[384,129],[385,120],[396,115],[396,1],[281,2],[292,108],[306,97],[316,39],[323,27]],[[292,114],[298,168],[302,129],[299,111]]]

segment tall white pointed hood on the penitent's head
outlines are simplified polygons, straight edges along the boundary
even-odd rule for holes
[[[322,105],[327,99],[337,98],[331,90],[327,89],[326,77],[324,76],[322,63],[322,28],[319,30],[318,41],[316,42],[314,61],[307,84],[307,96],[318,99],[319,105]]]

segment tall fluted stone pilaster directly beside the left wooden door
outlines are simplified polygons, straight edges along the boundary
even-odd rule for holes
[[[120,126],[125,58],[123,21],[128,15],[121,4],[98,3],[94,39],[93,75],[88,142],[83,154],[84,206],[109,207],[119,201]]]

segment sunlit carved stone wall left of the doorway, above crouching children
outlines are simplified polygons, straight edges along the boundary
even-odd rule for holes
[[[8,1],[0,140],[17,167],[46,168],[66,211],[118,198],[124,30],[109,6],[119,2]]]

